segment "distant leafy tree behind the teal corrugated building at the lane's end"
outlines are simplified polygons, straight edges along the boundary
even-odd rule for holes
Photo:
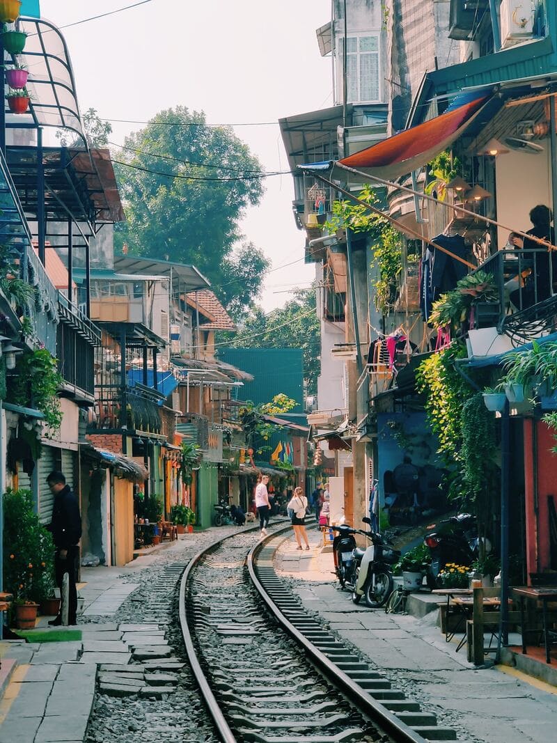
[[[316,314],[315,291],[297,291],[284,307],[264,314],[255,307],[236,334],[225,337],[230,345],[250,348],[302,348],[307,394],[317,394],[321,371],[321,328]]]

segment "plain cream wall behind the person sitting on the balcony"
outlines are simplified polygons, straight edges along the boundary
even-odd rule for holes
[[[536,204],[551,207],[551,168],[549,140],[536,140],[544,147],[539,155],[509,152],[499,155],[495,162],[497,187],[497,221],[514,230],[530,230],[528,213]],[[501,250],[509,230],[498,229],[498,248]]]

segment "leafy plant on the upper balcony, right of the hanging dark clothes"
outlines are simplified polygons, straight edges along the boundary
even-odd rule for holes
[[[476,271],[463,276],[452,291],[441,294],[433,303],[429,322],[435,328],[453,330],[469,317],[470,309],[478,302],[498,302],[499,295],[491,273]]]

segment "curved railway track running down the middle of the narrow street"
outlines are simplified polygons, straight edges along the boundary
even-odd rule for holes
[[[455,740],[304,609],[273,567],[279,528],[198,553],[180,583],[186,653],[225,743]]]

